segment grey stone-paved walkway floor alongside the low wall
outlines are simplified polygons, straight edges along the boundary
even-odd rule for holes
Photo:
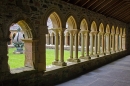
[[[55,86],[130,86],[130,55]]]

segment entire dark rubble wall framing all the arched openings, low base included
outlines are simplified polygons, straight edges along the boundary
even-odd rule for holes
[[[100,23],[104,24],[104,27],[109,24],[116,28],[126,28],[126,46],[127,50],[112,55],[104,56],[101,58],[85,61],[83,63],[74,64],[71,66],[61,67],[54,71],[45,71],[45,35],[48,33],[47,18],[52,13],[56,12],[62,22],[62,28],[66,28],[66,21],[71,15],[74,17],[77,23],[77,28],[80,28],[80,22],[83,18],[87,20],[88,28],[90,30],[92,21],[95,21],[97,27]],[[8,47],[7,42],[9,39],[9,27],[12,23],[24,20],[30,27],[32,34],[32,40],[36,40],[36,43],[32,43],[32,49],[35,52],[34,68],[35,70],[24,71],[21,73],[11,74],[8,66]],[[62,82],[69,78],[75,77],[83,72],[91,70],[106,64],[110,61],[118,59],[119,57],[129,54],[130,49],[130,26],[113,18],[106,17],[104,15],[86,10],[84,8],[71,5],[61,0],[1,0],[0,1],[0,85],[1,86],[40,86],[55,84]],[[33,42],[33,41],[32,41]],[[31,43],[30,43],[31,44]],[[35,47],[35,48],[34,48]],[[101,61],[101,62],[100,62]],[[77,69],[76,71],[73,69]],[[41,72],[42,71],[42,72]],[[62,77],[61,77],[62,76]],[[8,82],[8,83],[7,83]],[[38,83],[37,83],[38,82]]]

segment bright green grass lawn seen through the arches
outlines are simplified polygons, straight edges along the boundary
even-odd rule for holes
[[[24,60],[25,60],[25,55],[24,54],[13,54],[15,51],[15,48],[9,48],[9,60],[8,64],[10,65],[10,69],[14,68],[20,68],[24,67]],[[55,58],[55,50],[54,49],[46,49],[46,65],[52,64]],[[74,54],[74,53],[73,53]],[[64,60],[67,61],[69,59],[70,51],[65,50],[64,51]],[[79,51],[79,56],[80,56],[80,51]]]

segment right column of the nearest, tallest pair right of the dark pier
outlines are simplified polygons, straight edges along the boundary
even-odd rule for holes
[[[59,60],[59,65],[60,66],[66,66],[66,63],[64,62],[64,33],[63,30],[59,32],[60,36],[60,60]]]

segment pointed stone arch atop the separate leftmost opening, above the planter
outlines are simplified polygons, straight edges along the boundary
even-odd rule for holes
[[[26,15],[17,14],[16,16],[14,16],[7,25],[8,31],[9,31],[9,27],[15,23],[17,23],[22,28],[26,39],[36,39],[37,38],[36,31],[32,26],[33,24],[31,24],[30,20],[26,17]],[[9,37],[9,32],[7,32],[7,37]]]

